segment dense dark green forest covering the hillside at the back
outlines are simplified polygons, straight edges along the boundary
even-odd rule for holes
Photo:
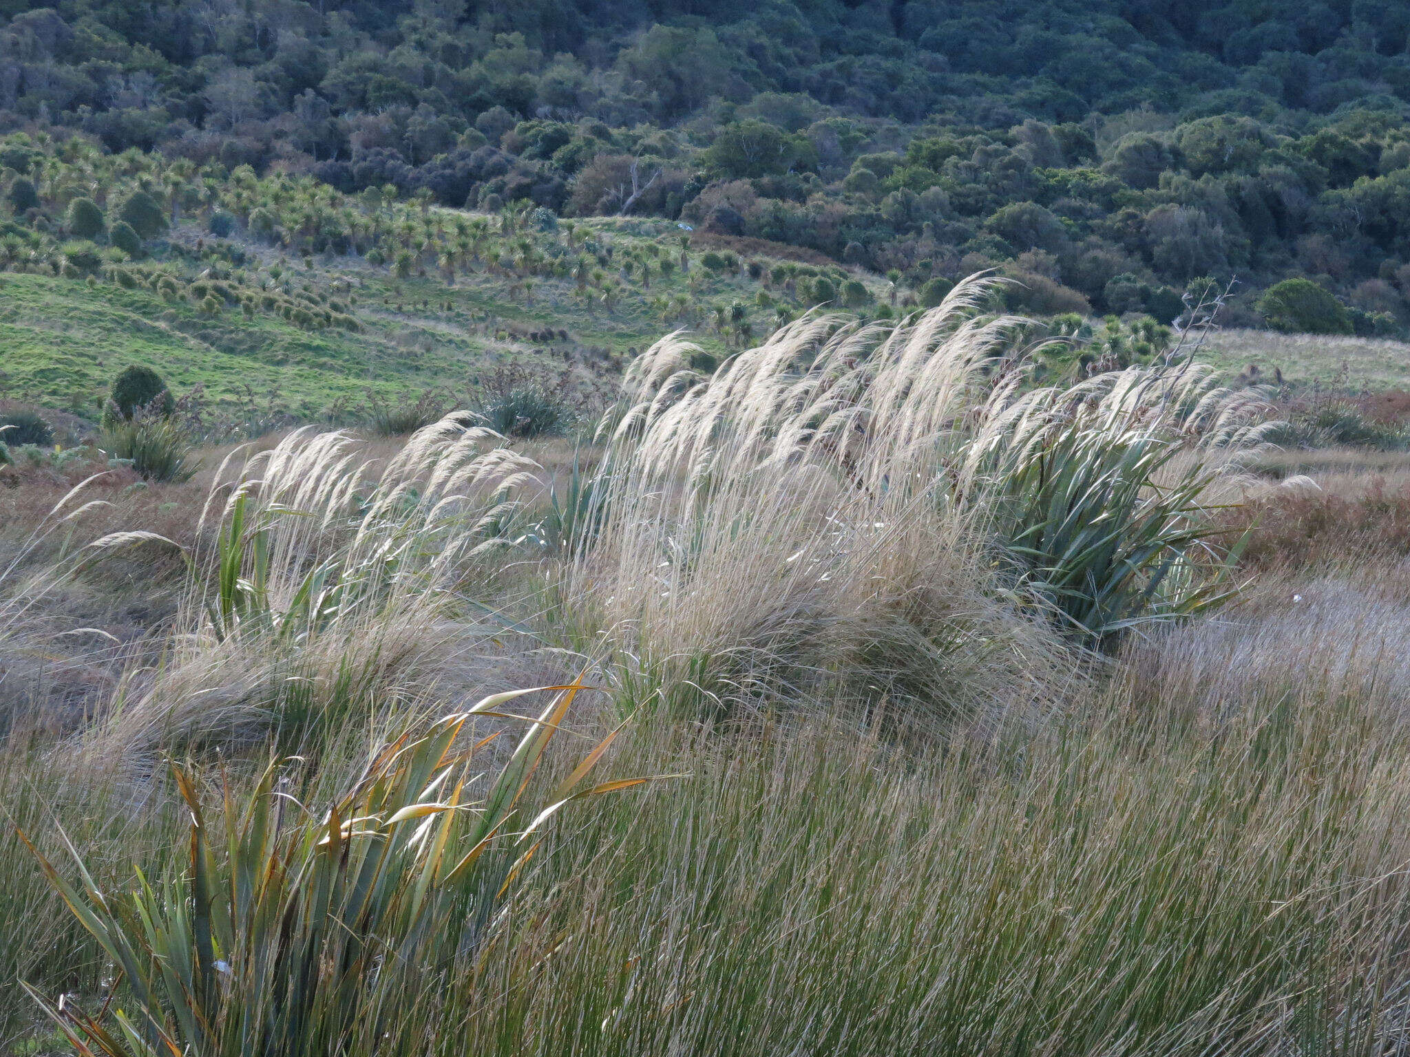
[[[1231,323],[1410,323],[1404,3],[8,0],[0,20],[0,131],[666,217],[918,292],[998,268],[1035,313],[1167,321],[1237,280]],[[0,166],[23,214],[42,155]],[[1313,282],[1268,295],[1292,276]]]

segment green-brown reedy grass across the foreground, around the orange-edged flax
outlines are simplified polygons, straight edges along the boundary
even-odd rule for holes
[[[441,905],[426,937],[382,934],[402,946],[327,992],[360,1016],[320,999],[310,1030],[350,1054],[1394,1053],[1410,1012],[1407,729],[1341,689],[1335,678],[1292,695],[1253,685],[1230,710],[1120,678],[1062,720],[943,751],[924,737],[901,748],[845,716],[730,733],[664,717],[627,727],[599,764],[605,779],[685,777],[556,826],[499,912],[486,917],[481,899],[523,846],[474,898]],[[358,772],[341,774],[324,792]],[[337,798],[289,792],[320,806],[306,819],[285,801],[278,847],[316,854],[321,805]],[[224,878],[219,786],[203,802]],[[234,798],[237,813],[255,803]],[[82,817],[62,799],[58,810]],[[365,813],[368,834],[385,827],[385,810]],[[35,816],[62,864],[54,823]],[[427,817],[430,837],[444,815]],[[157,901],[159,922],[195,937],[189,839],[171,822],[117,824],[130,840],[100,858],[109,884],[135,860],[151,889],[111,899]],[[399,857],[379,877],[407,895],[434,841],[388,847]],[[86,982],[70,1013],[94,1012],[102,958],[62,926],[61,905],[35,902],[42,882],[11,870],[30,906],[51,909],[3,923],[48,941],[21,961],[28,978]],[[125,929],[141,933],[137,919]],[[65,968],[75,950],[89,951],[86,978]],[[192,965],[195,951],[190,939]],[[179,968],[179,951],[152,964]],[[336,977],[344,963],[317,964]],[[142,1009],[124,984],[117,1008]],[[240,1051],[221,1039],[192,1051]]]

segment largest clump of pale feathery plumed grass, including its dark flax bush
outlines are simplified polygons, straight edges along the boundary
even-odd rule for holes
[[[647,350],[570,596],[668,688],[826,674],[957,715],[1048,699],[1073,627],[1100,643],[1211,602],[1191,551],[1213,471],[1159,476],[1253,443],[1251,397],[1183,364],[1028,388],[1025,321],[980,314],[993,288],[894,326],[805,317],[709,378],[678,334]]]

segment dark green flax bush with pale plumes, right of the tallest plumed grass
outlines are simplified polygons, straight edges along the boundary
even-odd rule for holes
[[[986,512],[1022,589],[1110,645],[1228,596],[1239,544],[1215,545],[1210,500],[1265,445],[1266,417],[1259,393],[1189,362],[991,397],[955,495]]]

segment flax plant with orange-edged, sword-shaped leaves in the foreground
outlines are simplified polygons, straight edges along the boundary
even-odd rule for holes
[[[138,871],[131,894],[103,892],[72,844],[78,877],[68,879],[20,832],[118,970],[97,1016],[30,994],[80,1053],[109,1057],[298,1057],[379,1039],[424,1002],[427,974],[474,958],[494,934],[495,905],[554,815],[651,781],[582,788],[609,736],[529,806],[530,781],[581,689],[580,679],[492,695],[420,737],[405,731],[321,815],[285,792],[281,772],[293,761],[271,764],[245,795],[224,777],[210,815],[195,775],[173,765],[190,816],[188,854],[178,843],[161,875]],[[467,722],[515,719],[505,706],[541,691],[553,699],[482,782],[477,753],[495,736],[458,744]]]

